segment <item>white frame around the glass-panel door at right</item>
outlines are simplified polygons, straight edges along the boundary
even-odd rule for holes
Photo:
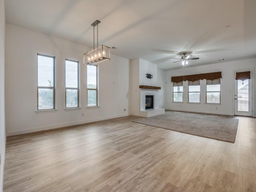
[[[243,71],[252,71],[252,75],[251,75],[251,80],[252,80],[252,103],[251,103],[251,107],[252,107],[252,117],[255,117],[254,115],[254,110],[255,110],[255,104],[254,104],[254,97],[255,92],[254,92],[254,68],[249,68],[249,69],[241,69],[241,70],[233,70],[233,114],[235,115],[235,81],[236,81],[236,72],[243,72]]]

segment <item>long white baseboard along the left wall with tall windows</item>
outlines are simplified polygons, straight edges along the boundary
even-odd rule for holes
[[[106,117],[95,118],[95,119],[90,119],[90,120],[68,122],[68,123],[63,123],[63,124],[55,124],[55,125],[51,125],[51,126],[43,126],[43,127],[37,127],[37,128],[28,128],[28,129],[24,129],[24,130],[10,131],[10,132],[6,132],[6,135],[7,136],[14,136],[14,135],[20,135],[20,134],[26,134],[26,133],[56,129],[56,128],[61,128],[61,127],[68,127],[68,126],[73,126],[73,125],[91,123],[91,122],[114,119],[114,118],[119,118],[119,117],[126,117],[126,116],[129,116],[129,114],[106,116]]]

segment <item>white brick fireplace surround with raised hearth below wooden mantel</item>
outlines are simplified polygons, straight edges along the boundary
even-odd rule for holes
[[[154,96],[154,108],[146,110],[146,95]],[[158,90],[156,89],[143,89],[140,88],[140,116],[141,117],[152,117],[160,114],[164,114],[164,109],[158,108]]]

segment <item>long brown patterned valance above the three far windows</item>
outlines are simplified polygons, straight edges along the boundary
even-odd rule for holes
[[[214,72],[214,73],[202,73],[202,74],[195,74],[195,75],[184,75],[184,76],[176,76],[172,77],[171,81],[172,82],[181,82],[181,81],[197,81],[197,80],[214,80],[222,78],[221,77],[221,72]]]

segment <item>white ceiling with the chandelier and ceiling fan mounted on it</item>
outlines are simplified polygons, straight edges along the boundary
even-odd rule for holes
[[[256,57],[256,0],[5,0],[6,22],[158,68],[189,67]],[[87,52],[89,50],[84,50]],[[224,60],[223,60],[224,59]]]

